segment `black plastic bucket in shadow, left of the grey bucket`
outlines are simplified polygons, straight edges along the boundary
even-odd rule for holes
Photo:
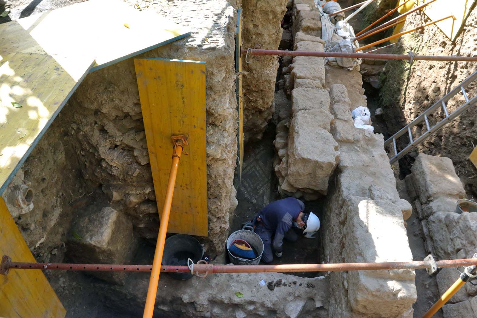
[[[166,239],[162,265],[186,265],[187,258],[196,264],[204,256],[204,249],[194,237],[184,234],[176,234]],[[192,278],[190,273],[168,273],[176,279],[186,280]]]

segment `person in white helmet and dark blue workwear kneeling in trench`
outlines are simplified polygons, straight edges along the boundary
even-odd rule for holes
[[[283,254],[283,238],[290,242],[296,242],[297,234],[292,226],[303,230],[303,234],[312,234],[320,228],[318,216],[311,213],[303,213],[305,204],[294,198],[289,197],[274,201],[265,206],[254,218],[254,232],[257,233],[263,241],[262,261],[270,263],[273,260],[272,248],[277,257]],[[308,238],[312,236],[305,235]],[[273,241],[272,241],[273,237]]]

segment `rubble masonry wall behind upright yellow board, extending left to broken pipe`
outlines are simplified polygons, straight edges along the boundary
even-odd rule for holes
[[[148,10],[189,25],[192,35],[138,57],[206,62],[209,239],[204,243],[221,250],[229,213],[237,205],[232,181],[237,159],[234,51],[240,1],[159,2]],[[21,185],[33,190],[33,205],[14,206],[10,196]],[[82,238],[89,234],[72,219],[93,217],[103,207],[111,212],[106,219],[124,216],[135,236],[155,242],[158,209],[132,58],[86,76],[3,197],[38,260],[62,261],[65,250],[78,243],[72,231]],[[114,231],[114,224],[105,228]],[[135,251],[134,245],[123,247],[125,253]],[[116,256],[108,262],[127,261]],[[92,258],[85,256],[83,261],[88,259]]]

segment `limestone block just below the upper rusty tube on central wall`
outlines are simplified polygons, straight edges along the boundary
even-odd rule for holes
[[[318,81],[321,87],[325,84],[325,67],[322,57],[296,56],[293,58],[292,70],[290,73],[291,82],[300,79]]]

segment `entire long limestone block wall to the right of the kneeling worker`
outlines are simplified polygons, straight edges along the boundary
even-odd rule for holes
[[[295,0],[293,21],[294,50],[323,51],[313,1]],[[325,262],[412,260],[404,227],[412,206],[399,198],[383,135],[353,125],[351,110],[366,106],[359,67],[350,72],[317,57],[295,57],[284,67],[292,110],[277,126],[279,191],[305,200],[328,194]],[[413,270],[329,277],[330,317],[412,317]]]

